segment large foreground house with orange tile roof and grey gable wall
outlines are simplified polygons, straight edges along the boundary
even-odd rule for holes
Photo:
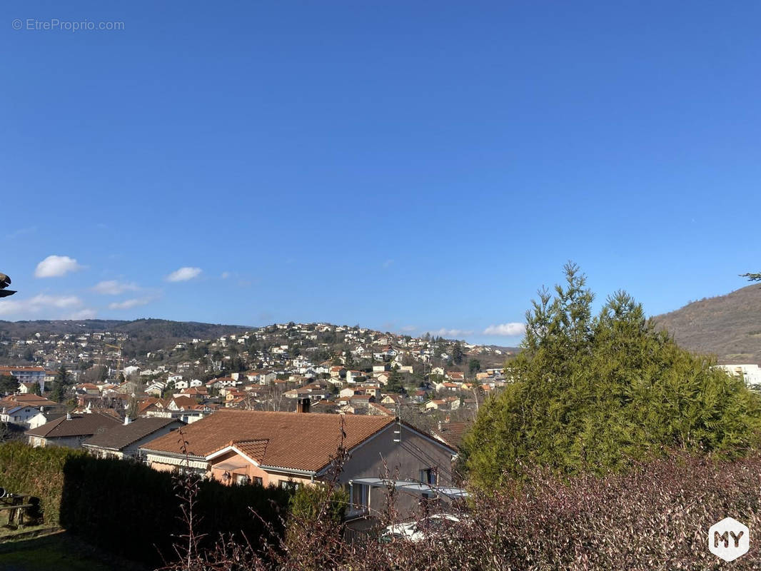
[[[302,410],[309,409],[308,402]],[[351,498],[350,518],[380,509],[389,472],[400,480],[451,486],[454,448],[393,416],[218,410],[183,429],[186,453],[173,434],[143,445],[151,467],[184,466],[222,483],[295,487],[330,479],[339,445],[349,459],[338,484]],[[428,490],[426,490],[428,491]],[[400,513],[417,509],[419,496],[400,494]]]

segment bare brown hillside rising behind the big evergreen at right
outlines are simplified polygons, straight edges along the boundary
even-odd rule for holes
[[[686,349],[718,356],[721,363],[761,365],[761,286],[693,301],[654,317]]]

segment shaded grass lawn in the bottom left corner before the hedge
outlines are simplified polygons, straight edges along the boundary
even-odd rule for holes
[[[146,571],[65,531],[0,543],[0,571]]]

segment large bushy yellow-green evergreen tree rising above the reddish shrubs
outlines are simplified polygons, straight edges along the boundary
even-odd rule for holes
[[[625,292],[592,317],[578,266],[527,312],[514,382],[487,400],[463,442],[477,486],[517,474],[521,461],[563,474],[604,473],[667,448],[742,455],[757,442],[759,398],[711,359],[657,331]]]

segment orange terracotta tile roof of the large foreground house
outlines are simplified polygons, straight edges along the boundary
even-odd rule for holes
[[[267,441],[263,464],[317,472],[325,467],[341,441],[341,418],[337,414],[273,413],[223,409],[183,428],[189,455],[205,458],[242,441]],[[346,448],[365,442],[393,423],[392,416],[343,416]],[[181,455],[176,434],[148,442],[148,451]],[[256,453],[252,451],[252,454]]]

